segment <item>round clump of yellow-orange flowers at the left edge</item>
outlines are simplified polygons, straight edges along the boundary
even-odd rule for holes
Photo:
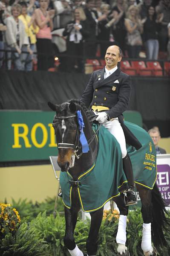
[[[20,226],[20,215],[11,204],[0,203],[0,239],[5,237],[6,233],[14,234]]]

